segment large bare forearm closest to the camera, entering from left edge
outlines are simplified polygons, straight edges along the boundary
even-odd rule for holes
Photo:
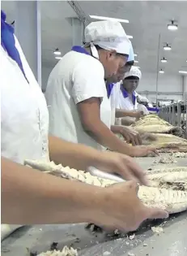
[[[2,223],[82,223],[102,205],[103,189],[2,158]]]

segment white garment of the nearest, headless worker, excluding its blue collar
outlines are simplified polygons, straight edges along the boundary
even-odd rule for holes
[[[2,156],[21,164],[25,158],[49,160],[49,116],[45,97],[17,40],[15,46],[29,84],[18,64],[1,46]],[[19,227],[2,224],[1,239]]]

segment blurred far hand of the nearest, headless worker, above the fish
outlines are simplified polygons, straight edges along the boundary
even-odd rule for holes
[[[125,180],[134,180],[140,184],[148,184],[146,171],[143,171],[134,159],[125,154],[115,152],[102,152],[100,162],[95,167],[100,171],[117,173]]]

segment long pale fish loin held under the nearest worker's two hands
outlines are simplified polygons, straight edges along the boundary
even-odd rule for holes
[[[85,171],[62,167],[60,164],[55,166],[54,163],[42,163],[32,160],[26,160],[25,164],[41,171],[44,171],[46,168],[48,173],[55,176],[61,176],[69,180],[79,180],[100,187],[107,187],[108,185],[117,183],[117,181],[114,180],[91,176],[90,173]],[[167,210],[170,214],[187,210],[187,191],[140,186],[138,197],[146,206],[159,207]]]

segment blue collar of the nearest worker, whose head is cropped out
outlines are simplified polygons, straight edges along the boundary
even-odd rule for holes
[[[19,65],[19,68],[23,72],[23,76],[28,81],[25,76],[25,72],[23,70],[23,64],[19,56],[19,51],[15,47],[15,30],[14,28],[6,23],[6,14],[1,11],[1,44],[2,48],[6,51],[6,53],[11,57],[11,59],[15,60],[15,62]]]

